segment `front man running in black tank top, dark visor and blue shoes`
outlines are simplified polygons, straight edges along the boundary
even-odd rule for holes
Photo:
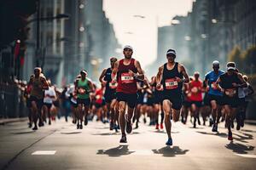
[[[189,76],[183,65],[175,62],[176,52],[168,49],[166,53],[167,63],[161,65],[156,77],[156,88],[161,88],[163,80],[163,109],[165,111],[166,133],[168,135],[167,145],[172,145],[171,119],[177,122],[182,107],[183,82],[189,82]],[[185,79],[183,79],[185,77]]]

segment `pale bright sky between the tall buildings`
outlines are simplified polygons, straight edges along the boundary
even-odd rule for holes
[[[144,67],[156,59],[157,27],[170,26],[175,15],[187,15],[192,3],[193,0],[103,0],[103,10],[119,43],[131,45],[133,57]]]

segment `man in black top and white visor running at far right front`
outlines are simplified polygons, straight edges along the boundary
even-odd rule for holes
[[[241,77],[241,74],[236,72],[236,64],[229,62],[227,64],[227,72],[218,77],[216,85],[219,90],[224,92],[223,102],[226,114],[226,125],[229,130],[228,139],[233,140],[231,122],[233,122],[236,116],[236,108],[239,105],[238,88],[246,88],[247,83]]]

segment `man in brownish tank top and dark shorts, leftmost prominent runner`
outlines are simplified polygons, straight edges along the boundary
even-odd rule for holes
[[[44,75],[42,74],[42,69],[36,67],[34,69],[34,74],[30,77],[28,86],[32,85],[32,91],[30,96],[30,102],[32,104],[32,118],[34,122],[33,130],[38,130],[38,117],[39,117],[39,127],[44,126],[44,122],[41,116],[41,109],[44,104],[44,90],[49,88],[48,82],[46,81]]]

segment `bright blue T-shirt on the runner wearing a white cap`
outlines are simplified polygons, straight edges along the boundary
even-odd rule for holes
[[[218,71],[216,74],[214,71],[210,71],[206,75],[206,80],[208,80],[209,92],[208,94],[222,96],[223,94],[216,88],[214,88],[214,82],[217,81],[220,75],[224,74],[224,71]]]

